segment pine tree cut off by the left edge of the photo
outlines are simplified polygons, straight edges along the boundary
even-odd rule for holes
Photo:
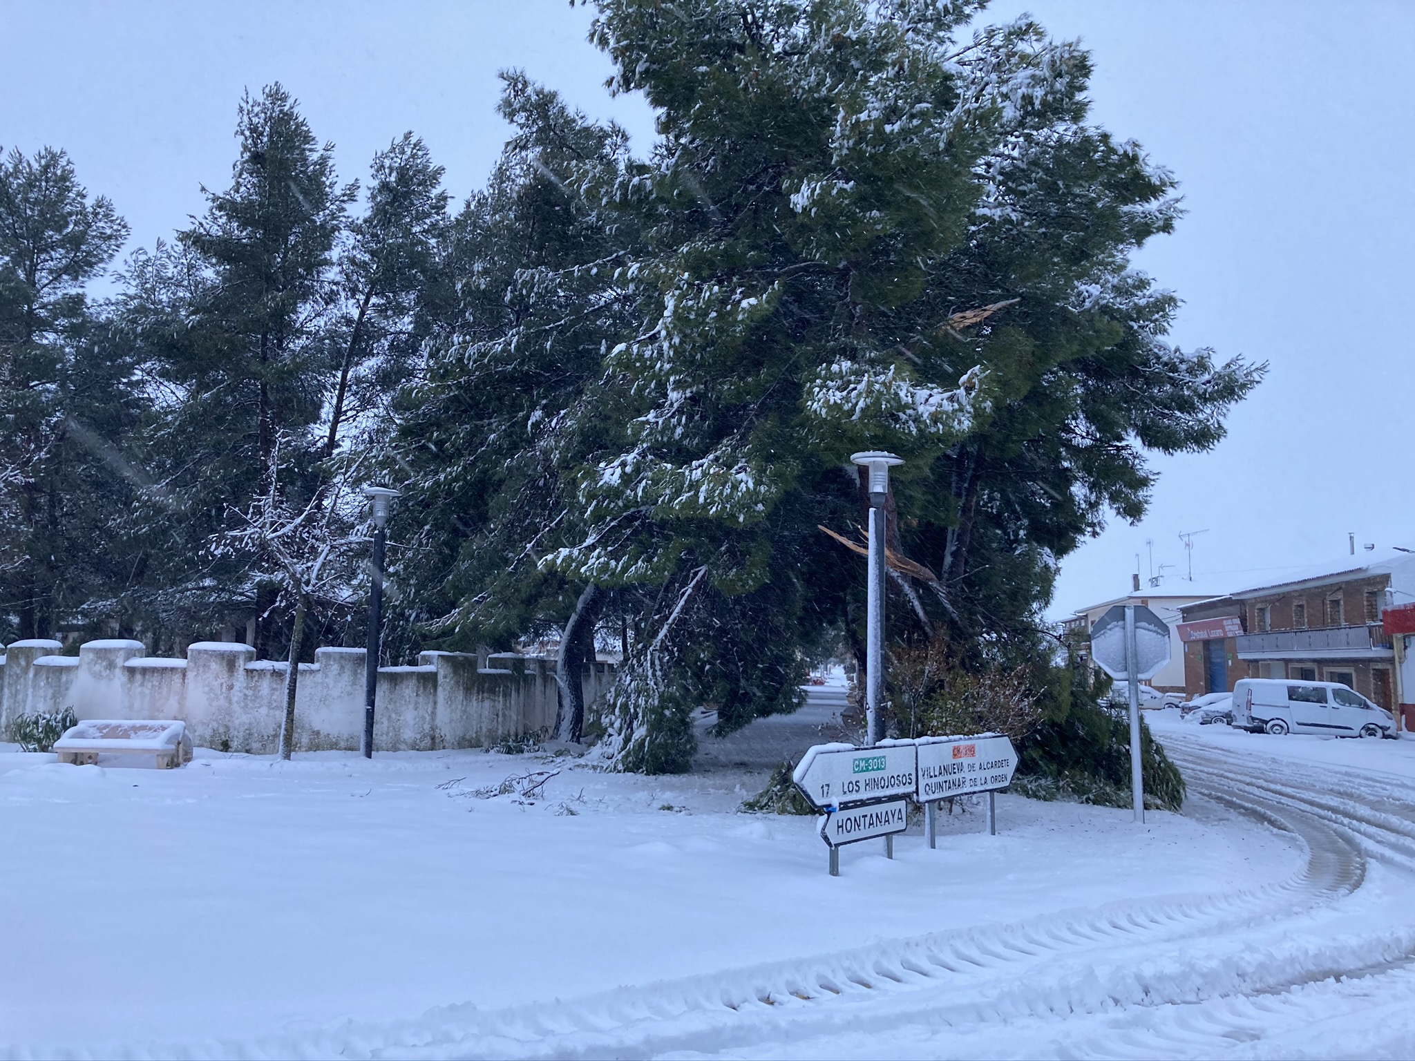
[[[0,161],[0,641],[89,617],[123,574],[112,523],[134,472],[119,447],[140,400],[85,284],[126,238],[62,151]]]

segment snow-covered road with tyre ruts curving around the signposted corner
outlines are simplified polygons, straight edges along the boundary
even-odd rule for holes
[[[1194,813],[1286,830],[1300,871],[1234,880],[1206,901],[1115,903],[549,1011],[450,1010],[361,1045],[419,1058],[1415,1054],[1415,785],[1177,730],[1166,744]]]

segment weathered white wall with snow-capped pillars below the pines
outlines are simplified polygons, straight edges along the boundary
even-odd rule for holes
[[[58,641],[17,641],[0,656],[0,727],[18,714],[72,707],[82,719],[171,719],[194,743],[270,754],[284,716],[287,663],[249,645],[198,641],[185,659],[147,658],[140,641],[89,641],[78,658]],[[364,733],[364,649],[320,648],[300,663],[296,748],[357,750]],[[553,659],[423,652],[417,666],[378,672],[374,747],[432,751],[485,747],[555,724]],[[586,703],[603,696],[614,663],[582,673]]]

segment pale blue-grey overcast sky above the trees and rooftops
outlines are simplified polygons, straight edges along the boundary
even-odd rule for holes
[[[1173,338],[1271,362],[1200,456],[1156,458],[1150,514],[1065,559],[1053,615],[1119,596],[1218,593],[1415,543],[1415,3],[998,3],[1092,51],[1094,115],[1182,182],[1189,215],[1138,265],[1184,300]],[[565,0],[188,4],[0,0],[0,146],[69,151],[151,245],[224,188],[245,88],[280,81],[344,178],[403,130],[478,187],[521,66],[644,147],[648,109],[603,89],[590,14]],[[1404,448],[1402,448],[1404,447]],[[1194,539],[1193,584],[1179,535]]]

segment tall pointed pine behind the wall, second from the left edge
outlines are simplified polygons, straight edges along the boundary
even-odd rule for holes
[[[338,184],[333,146],[280,85],[242,99],[236,139],[231,188],[208,191],[207,214],[129,270],[126,323],[161,392],[143,440],[156,485],[133,526],[150,621],[195,634],[255,618],[258,649],[272,651],[289,611],[276,564],[211,545],[256,498],[300,509],[321,487],[334,252],[357,185]]]

